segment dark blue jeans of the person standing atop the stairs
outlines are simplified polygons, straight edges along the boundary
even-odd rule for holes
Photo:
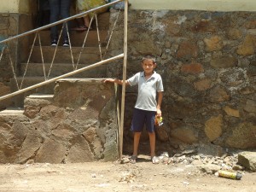
[[[55,21],[61,19],[66,19],[69,17],[69,9],[71,5],[71,0],[49,0],[49,10],[50,16],[49,21],[50,23],[54,23]],[[62,32],[63,38],[67,39],[67,28],[66,25],[63,27]],[[58,39],[58,28],[57,26],[52,26],[50,28],[50,38]]]

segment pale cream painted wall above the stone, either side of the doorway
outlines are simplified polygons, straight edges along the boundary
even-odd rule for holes
[[[36,0],[0,0],[0,13],[28,14]],[[129,0],[131,9],[256,11],[256,0]]]

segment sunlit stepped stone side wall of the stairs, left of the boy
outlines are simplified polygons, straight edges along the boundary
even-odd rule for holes
[[[116,93],[102,79],[62,79],[54,96],[26,97],[24,113],[0,113],[0,163],[116,160]]]

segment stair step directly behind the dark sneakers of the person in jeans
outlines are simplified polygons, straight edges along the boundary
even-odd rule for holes
[[[70,41],[72,46],[81,47],[84,44],[84,38],[86,36],[87,31],[70,31]],[[41,45],[49,46],[50,45],[50,32],[48,31],[41,31],[39,32]],[[108,31],[99,31],[99,38],[100,43],[102,46],[108,43]],[[33,43],[34,35],[30,37],[30,44]],[[38,39],[35,42],[36,45],[39,44]],[[60,39],[60,45],[62,45],[62,39]],[[90,31],[86,38],[86,42],[84,44],[85,47],[90,46],[98,46],[98,36],[96,30]]]

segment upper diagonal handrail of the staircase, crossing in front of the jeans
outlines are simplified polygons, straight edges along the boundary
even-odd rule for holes
[[[56,21],[54,23],[50,23],[49,25],[38,27],[38,28],[33,29],[33,30],[29,31],[29,32],[23,32],[23,33],[21,33],[19,35],[16,35],[15,37],[7,38],[7,39],[4,39],[3,41],[0,41],[0,44],[4,44],[4,43],[9,42],[11,40],[14,40],[16,38],[22,38],[22,37],[24,37],[26,35],[30,35],[30,34],[32,34],[34,32],[42,31],[42,30],[47,29],[47,28],[49,28],[51,26],[56,26],[56,25],[59,25],[61,23],[67,22],[68,20],[74,20],[76,18],[83,17],[84,15],[88,15],[88,14],[90,14],[92,12],[95,12],[98,9],[107,8],[107,7],[109,7],[109,6],[111,6],[111,5],[115,4],[115,3],[119,3],[119,2],[123,2],[123,1],[124,0],[116,0],[115,2],[104,4],[104,5],[100,6],[100,7],[95,8],[95,9],[90,9],[88,11],[85,11],[85,12],[83,12],[81,14],[73,15],[73,16],[70,16],[70,17],[68,17],[66,19],[58,20],[58,21]]]

